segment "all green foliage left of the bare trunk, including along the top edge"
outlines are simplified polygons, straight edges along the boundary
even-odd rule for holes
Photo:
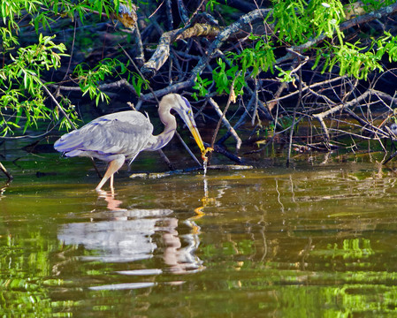
[[[119,1],[47,1],[47,0],[4,0],[0,3],[3,26],[0,26],[1,46],[3,57],[0,69],[0,133],[6,135],[15,129],[22,128],[23,133],[38,120],[59,120],[59,109],[48,106],[47,95],[43,93],[43,86],[50,84],[45,78],[61,66],[61,58],[68,57],[65,44],[56,42],[56,35],[44,36],[42,31],[51,30],[57,17],[80,19],[84,23],[88,12],[97,12],[99,17],[105,14],[108,18],[118,10]],[[20,45],[19,37],[24,35],[22,25],[34,27],[38,35],[36,43]],[[107,61],[94,70],[82,71],[82,65],[76,68],[81,78],[79,84],[84,94],[95,99],[98,103],[108,101],[98,88],[98,82],[111,74],[119,65],[116,61]],[[124,67],[124,65],[123,65]],[[65,97],[59,102],[59,107],[75,122],[77,114],[73,104]],[[60,125],[71,127],[65,117],[60,118]]]

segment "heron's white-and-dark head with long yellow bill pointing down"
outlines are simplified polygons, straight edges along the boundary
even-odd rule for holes
[[[190,133],[192,133],[193,137],[195,138],[195,142],[203,153],[205,151],[205,147],[202,143],[202,137],[200,136],[197,126],[195,125],[195,116],[193,114],[190,102],[188,102],[185,97],[182,97],[179,94],[168,94],[162,98],[160,104],[163,107],[176,110],[176,112],[187,125],[187,128],[189,128]]]

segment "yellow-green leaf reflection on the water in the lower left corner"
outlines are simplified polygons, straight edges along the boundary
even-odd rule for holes
[[[48,279],[54,265],[50,262],[50,254],[61,246],[56,240],[44,238],[41,231],[29,234],[28,237],[10,236],[0,246],[2,316],[48,317],[57,307],[73,306],[70,300],[55,302],[50,299],[47,288],[64,284],[62,279]]]

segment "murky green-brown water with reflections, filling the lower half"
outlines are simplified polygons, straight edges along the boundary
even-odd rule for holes
[[[396,176],[378,163],[124,171],[114,197],[85,159],[10,163],[1,316],[397,316]]]

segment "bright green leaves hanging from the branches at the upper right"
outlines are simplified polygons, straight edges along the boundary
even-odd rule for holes
[[[388,2],[381,5],[389,4]],[[365,7],[376,9],[380,4],[366,2]],[[278,79],[281,82],[294,82],[291,70],[283,70],[275,66],[274,50],[279,46],[294,48],[302,43],[326,35],[331,41],[324,41],[317,46],[317,57],[312,69],[323,63],[322,72],[332,72],[338,67],[340,75],[348,74],[356,79],[367,79],[373,71],[383,71],[381,59],[388,54],[390,60],[396,57],[397,43],[393,36],[387,34],[378,41],[372,42],[370,49],[362,46],[361,42],[350,43],[344,40],[340,31],[340,23],[346,17],[349,5],[343,6],[339,0],[323,2],[314,0],[273,1],[273,10],[265,22],[274,24],[274,36],[251,35],[253,47],[244,48],[240,54],[229,52],[227,58],[218,58],[218,67],[212,72],[212,79],[197,77],[195,89],[200,96],[208,94],[206,87],[214,83],[218,95],[228,94],[234,82],[235,95],[243,95],[243,87],[247,86],[248,79],[256,78],[260,72],[271,71],[274,67],[279,71]],[[376,44],[376,47],[375,47]]]

